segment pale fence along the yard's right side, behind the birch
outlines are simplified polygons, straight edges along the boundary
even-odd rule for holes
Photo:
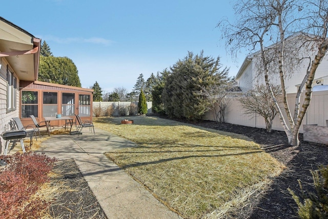
[[[295,109],[295,93],[287,95],[288,104],[293,115]],[[301,95],[301,103],[304,100],[304,95]],[[300,105],[300,108],[302,106]],[[284,110],[282,109],[284,112]],[[285,115],[284,115],[285,116]],[[285,116],[286,118],[286,116]],[[207,120],[215,121],[213,112],[206,114]],[[265,121],[260,115],[249,116],[244,114],[241,104],[237,101],[237,97],[231,97],[231,101],[226,110],[225,122],[249,127],[265,128]],[[311,103],[306,112],[302,125],[317,124],[318,126],[326,126],[328,120],[328,91],[315,91],[312,93]],[[287,121],[287,120],[286,120]],[[300,133],[303,133],[303,126],[300,127]],[[283,131],[278,115],[273,121],[274,130]]]

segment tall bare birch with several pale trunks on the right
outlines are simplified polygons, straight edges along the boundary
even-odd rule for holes
[[[222,37],[228,39],[226,45],[234,57],[245,48],[259,50],[259,73],[264,74],[280,123],[292,146],[299,145],[299,128],[310,105],[314,76],[328,49],[327,7],[327,0],[241,0],[235,5],[236,24],[224,19],[218,24],[222,29]],[[297,41],[293,40],[295,37]],[[297,62],[297,58],[298,63],[304,60],[305,56],[301,57],[300,51],[308,52],[306,55],[310,61],[295,98],[292,116],[286,97],[285,79],[297,66],[291,63]],[[286,117],[279,108],[270,84],[272,74],[280,77]],[[304,86],[305,99],[301,105],[299,96]]]

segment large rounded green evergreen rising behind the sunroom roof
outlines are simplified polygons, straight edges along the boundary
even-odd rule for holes
[[[68,57],[40,56],[38,80],[81,87],[77,68]]]

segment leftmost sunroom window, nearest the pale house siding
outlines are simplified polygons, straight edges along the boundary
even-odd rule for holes
[[[21,118],[29,118],[30,115],[38,117],[37,91],[22,91]]]

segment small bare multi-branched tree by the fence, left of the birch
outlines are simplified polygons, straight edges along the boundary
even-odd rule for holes
[[[272,91],[276,97],[281,95],[281,87],[279,85],[271,85]],[[278,100],[278,103],[281,101]],[[257,85],[254,89],[249,90],[243,96],[238,98],[245,114],[251,117],[259,114],[264,118],[265,128],[268,132],[272,131],[272,123],[277,115],[275,103],[272,101],[271,94],[265,85]]]

